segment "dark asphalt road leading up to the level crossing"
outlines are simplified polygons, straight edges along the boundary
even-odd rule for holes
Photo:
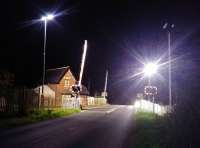
[[[110,105],[1,131],[1,148],[125,148],[130,106]]]

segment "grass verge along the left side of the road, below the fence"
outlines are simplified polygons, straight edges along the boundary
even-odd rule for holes
[[[14,116],[0,119],[0,128],[10,128],[26,124],[36,123],[48,119],[69,116],[80,112],[80,109],[51,109],[33,110],[25,116]]]

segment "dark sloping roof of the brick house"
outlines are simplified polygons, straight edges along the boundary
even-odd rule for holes
[[[66,66],[46,70],[46,83],[59,83],[69,69],[70,67]]]

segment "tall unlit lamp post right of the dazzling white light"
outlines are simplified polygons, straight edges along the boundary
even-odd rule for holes
[[[167,30],[167,39],[168,39],[168,75],[169,75],[169,107],[172,107],[172,72],[171,72],[171,30],[174,28],[174,24],[165,23],[163,29]]]

